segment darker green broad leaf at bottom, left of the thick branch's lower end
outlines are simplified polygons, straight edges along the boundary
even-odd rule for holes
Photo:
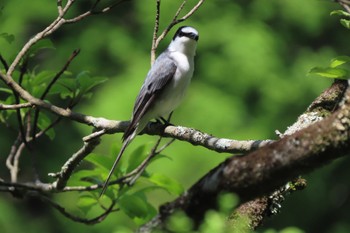
[[[124,194],[118,204],[120,209],[138,225],[146,223],[157,213],[157,210],[149,204],[143,192]]]

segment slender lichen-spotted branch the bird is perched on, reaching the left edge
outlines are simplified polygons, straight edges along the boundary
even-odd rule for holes
[[[15,81],[9,79],[7,75],[2,74],[0,71],[0,77],[8,83],[9,86],[12,86],[17,93],[20,94],[21,98],[28,101],[29,103],[47,109],[52,113],[57,114],[61,117],[69,118],[73,121],[77,121],[86,125],[91,125],[97,129],[105,129],[108,133],[115,132],[124,132],[127,128],[129,122],[127,121],[112,121],[105,118],[96,118],[93,116],[87,116],[80,113],[75,113],[70,109],[63,109],[58,106],[52,105],[48,102],[40,100],[38,98],[30,95],[26,90],[20,87]],[[195,129],[186,128],[182,126],[167,126],[164,129],[164,126],[161,124],[149,124],[148,127],[143,131],[150,135],[164,135],[164,137],[172,137],[178,140],[187,141],[193,145],[201,145],[210,150],[217,152],[226,152],[226,153],[242,153],[254,150],[256,148],[262,147],[268,143],[270,140],[231,140],[224,138],[217,138],[212,135],[202,133]]]

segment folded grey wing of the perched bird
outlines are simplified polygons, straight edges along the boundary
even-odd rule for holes
[[[154,62],[136,98],[133,116],[123,135],[123,140],[127,139],[136,130],[137,123],[152,107],[164,87],[171,81],[176,68],[175,62],[167,56],[166,52],[162,53]]]

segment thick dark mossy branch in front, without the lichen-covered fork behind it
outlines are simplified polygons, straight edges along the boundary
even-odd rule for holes
[[[349,132],[348,89],[342,108],[330,117],[246,156],[229,158],[175,202],[163,206],[161,215],[176,207],[200,221],[206,209],[215,208],[221,191],[238,194],[242,202],[268,194],[297,175],[348,154]]]

